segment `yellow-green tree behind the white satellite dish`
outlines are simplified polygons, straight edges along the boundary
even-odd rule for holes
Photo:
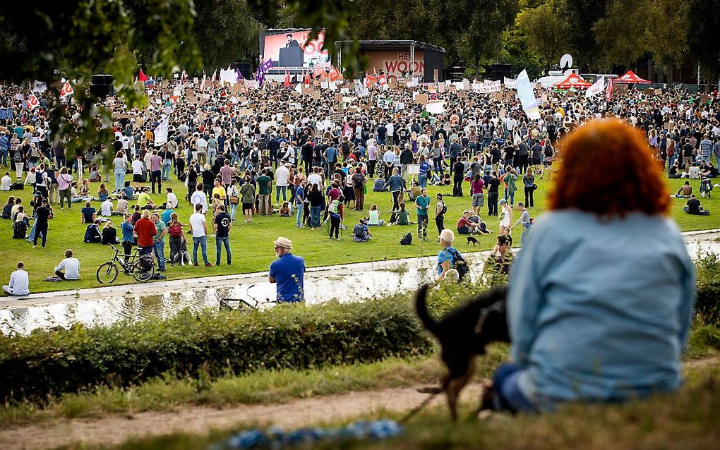
[[[523,9],[516,18],[518,30],[528,37],[527,48],[541,61],[545,70],[557,63],[566,48],[558,0],[548,0],[535,8]]]

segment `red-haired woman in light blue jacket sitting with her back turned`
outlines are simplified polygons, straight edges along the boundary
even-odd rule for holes
[[[566,138],[563,161],[510,275],[513,364],[495,405],[552,410],[678,389],[695,277],[647,140],[618,120]]]

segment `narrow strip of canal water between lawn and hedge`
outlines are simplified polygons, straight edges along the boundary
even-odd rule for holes
[[[720,233],[686,233],[688,253],[720,253]],[[480,276],[488,252],[466,253],[471,276]],[[308,269],[305,274],[307,304],[338,300],[353,302],[415,289],[435,276],[436,257],[408,258]],[[26,334],[36,328],[68,328],[73,323],[108,325],[146,318],[169,318],[180,310],[199,311],[221,307],[222,300],[238,305],[274,299],[275,285],[267,273],[186,279],[76,292],[50,292],[23,299],[0,300],[2,333]],[[233,301],[235,300],[235,301]]]

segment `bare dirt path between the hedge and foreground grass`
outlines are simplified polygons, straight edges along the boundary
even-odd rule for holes
[[[280,405],[243,405],[225,409],[192,407],[174,412],[138,413],[132,418],[111,416],[55,420],[1,430],[0,442],[7,450],[48,449],[79,442],[120,444],[133,436],[160,436],[176,431],[204,433],[212,428],[231,428],[238,423],[300,428],[374,411],[410,411],[427,397],[427,394],[417,392],[418,387],[311,397]],[[464,390],[462,400],[477,401],[479,397],[480,385],[471,385]],[[441,402],[444,402],[444,396],[438,395],[431,405],[440,405]]]

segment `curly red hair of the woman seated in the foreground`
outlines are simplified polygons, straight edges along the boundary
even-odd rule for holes
[[[644,135],[615,119],[593,120],[562,142],[562,163],[549,192],[551,210],[624,217],[667,215],[670,194]]]

